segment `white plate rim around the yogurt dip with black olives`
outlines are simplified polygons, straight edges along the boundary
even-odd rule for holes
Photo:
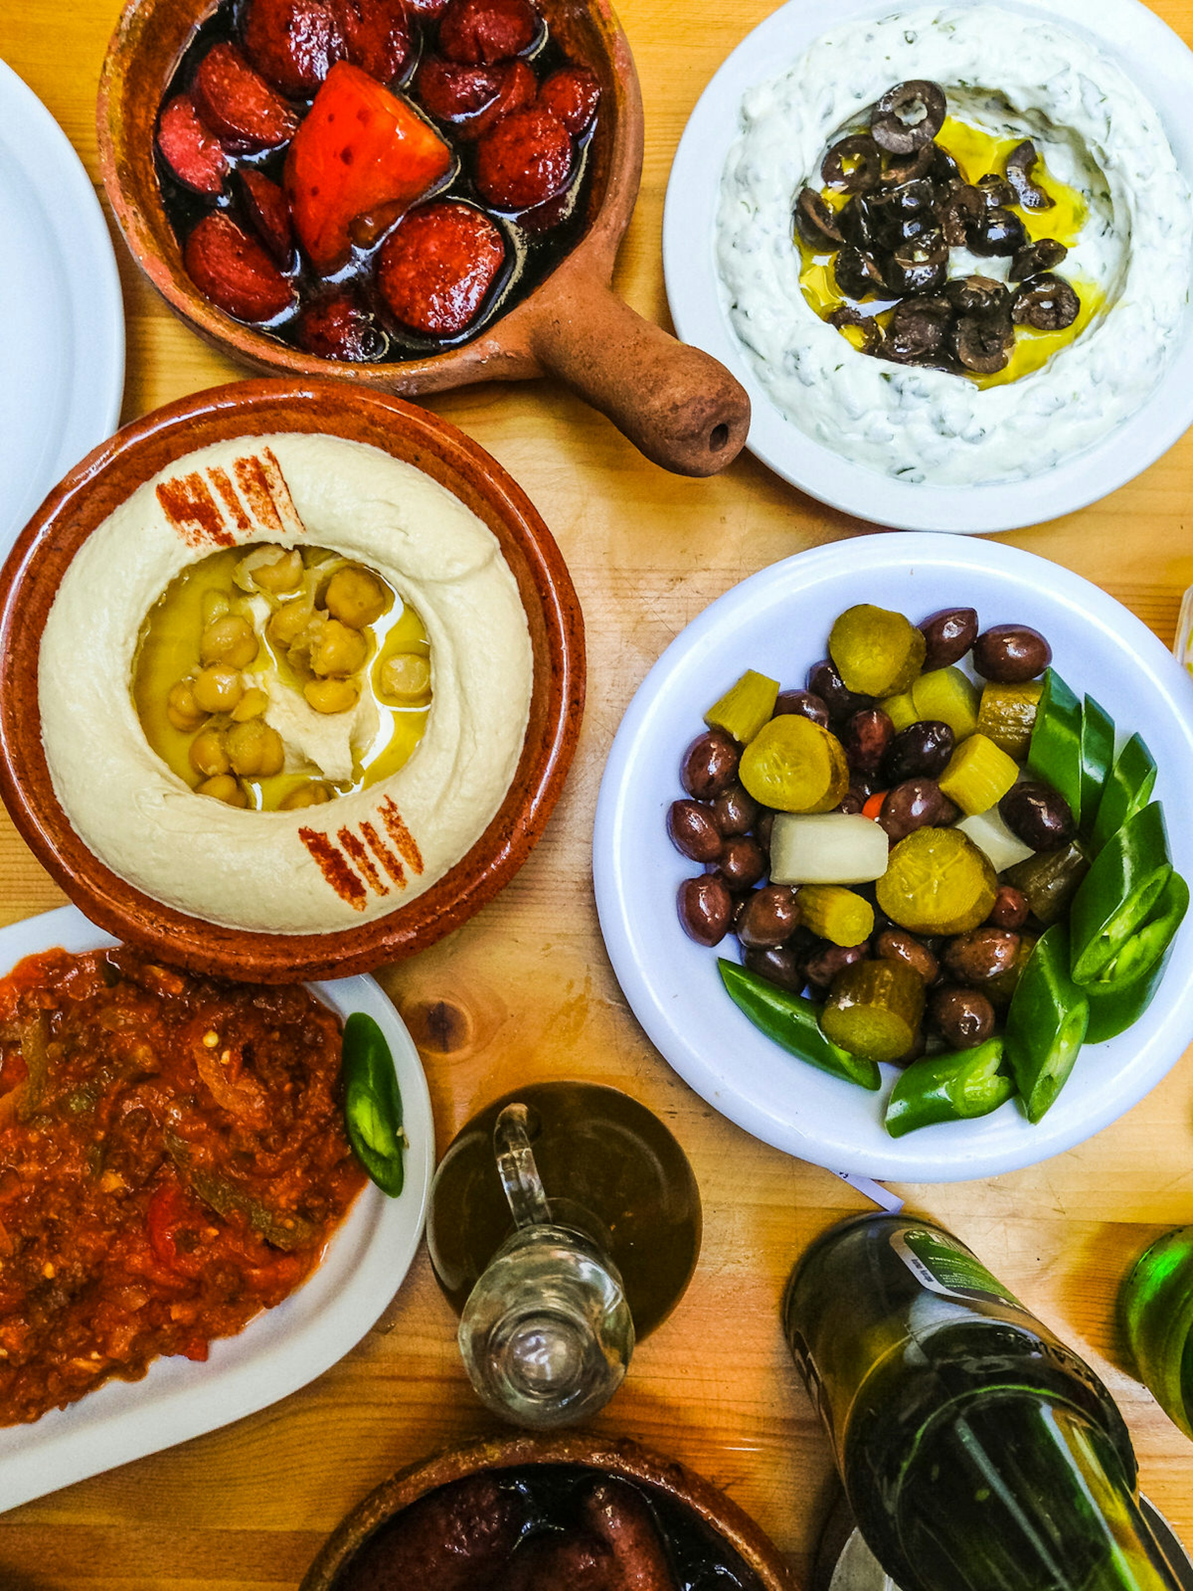
[[[716,73],[692,111],[666,186],[663,272],[671,317],[684,342],[716,355],[749,393],[749,450],[822,503],[903,530],[973,533],[1037,525],[1113,492],[1168,452],[1193,423],[1193,312],[1148,401],[1096,447],[1029,480],[954,488],[908,485],[814,442],[775,407],[724,309],[716,213],[743,94],[794,64],[829,24],[892,10],[891,0],[840,0],[829,16],[805,0],[789,0]],[[1012,0],[1005,10],[1012,16],[1043,13],[1093,38],[1156,108],[1177,164],[1193,185],[1193,53],[1153,11],[1139,0]]]

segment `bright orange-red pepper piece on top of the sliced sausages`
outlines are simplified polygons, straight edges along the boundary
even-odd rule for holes
[[[315,269],[345,264],[356,216],[401,215],[450,169],[452,151],[404,99],[359,67],[334,65],[286,156],[294,229]]]

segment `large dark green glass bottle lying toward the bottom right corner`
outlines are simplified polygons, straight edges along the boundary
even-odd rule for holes
[[[943,1228],[861,1216],[803,1255],[787,1344],[902,1591],[1176,1591],[1123,1418]]]

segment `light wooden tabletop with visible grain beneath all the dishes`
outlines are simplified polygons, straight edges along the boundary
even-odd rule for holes
[[[119,6],[6,0],[0,8],[0,57],[54,113],[97,188],[95,86]],[[676,142],[708,78],[770,10],[770,0],[620,5],[646,99],[646,167],[616,285],[662,323],[660,224]],[[1156,10],[1193,41],[1193,0],[1161,0]],[[115,228],[113,237],[127,318],[124,418],[240,377],[173,318]],[[808,1239],[865,1200],[722,1120],[651,1047],[601,945],[590,832],[612,733],[666,643],[746,574],[869,527],[802,496],[748,455],[713,480],[668,476],[547,382],[476,387],[431,407],[522,482],[555,533],[587,619],[589,706],[563,799],[514,883],[471,924],[383,971],[382,982],[406,1010],[442,998],[471,1018],[463,1045],[423,1050],[441,1152],[474,1109],[531,1079],[616,1083],[670,1123],[700,1182],[703,1254],[681,1308],[639,1348],[595,1424],[717,1481],[803,1572],[832,1476],[778,1301]],[[1190,465],[1193,434],[1102,503],[1005,539],[1098,582],[1171,643],[1180,593],[1193,584]],[[60,899],[0,811],[0,920]],[[1144,1488],[1193,1543],[1193,1446],[1129,1373],[1113,1317],[1133,1257],[1164,1227],[1193,1220],[1193,1053],[1067,1155],[988,1182],[897,1192],[975,1247],[1091,1360],[1131,1426]],[[377,1481],[495,1424],[464,1379],[455,1319],[423,1251],[382,1322],[304,1391],[0,1518],[0,1588],[291,1588]]]

